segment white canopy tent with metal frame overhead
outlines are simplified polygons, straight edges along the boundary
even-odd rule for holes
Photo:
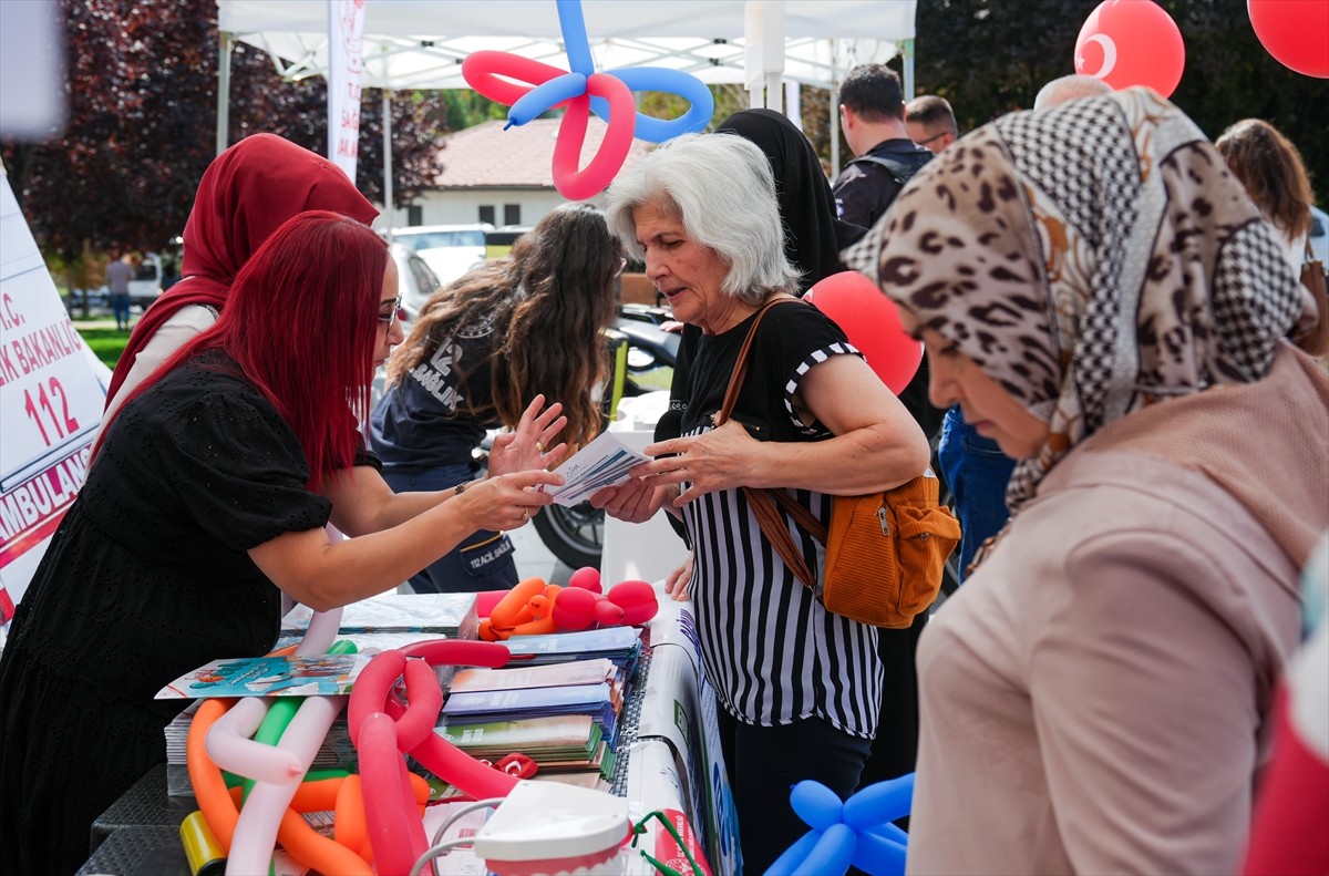
[[[704,82],[742,82],[752,106],[781,109],[785,80],[833,90],[853,65],[884,62],[900,52],[905,96],[912,97],[916,5],[917,0],[582,0],[582,12],[597,69],[667,66]],[[219,152],[226,146],[235,40],[267,52],[290,81],[323,76],[328,3],[217,0],[217,9]],[[384,89],[384,101],[392,90],[469,88],[461,61],[480,49],[567,69],[554,0],[365,0],[364,9],[360,85]],[[835,138],[832,144],[835,149]],[[836,154],[832,164],[839,165]]]

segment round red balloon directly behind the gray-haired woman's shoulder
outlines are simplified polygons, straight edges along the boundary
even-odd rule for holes
[[[833,319],[849,343],[868,358],[890,391],[900,395],[922,362],[922,344],[900,327],[896,304],[857,271],[841,271],[809,288],[803,300]]]

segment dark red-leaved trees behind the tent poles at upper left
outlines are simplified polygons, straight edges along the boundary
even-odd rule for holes
[[[0,144],[37,243],[72,270],[89,251],[158,250],[181,234],[215,153],[218,81],[213,0],[61,0],[68,121],[45,144]],[[323,153],[327,85],[283,82],[243,44],[231,65],[229,142],[280,134]],[[358,185],[383,198],[383,110],[361,106]],[[447,105],[437,93],[395,94],[393,195],[404,202],[437,174]]]

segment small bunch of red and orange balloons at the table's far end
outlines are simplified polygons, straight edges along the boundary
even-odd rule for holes
[[[567,586],[526,578],[512,590],[478,594],[480,638],[501,642],[512,635],[575,633],[599,626],[637,626],[655,617],[655,588],[646,581],[621,581],[602,593],[599,572],[583,566]]]

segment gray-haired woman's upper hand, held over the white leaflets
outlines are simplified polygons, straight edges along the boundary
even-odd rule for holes
[[[759,465],[758,452],[762,443],[747,433],[735,420],[711,429],[704,435],[676,437],[646,447],[646,456],[655,456],[650,463],[633,467],[633,475],[657,485],[682,484],[690,487],[672,500],[674,508],[682,508],[706,493],[732,489],[756,483],[754,467]]]

